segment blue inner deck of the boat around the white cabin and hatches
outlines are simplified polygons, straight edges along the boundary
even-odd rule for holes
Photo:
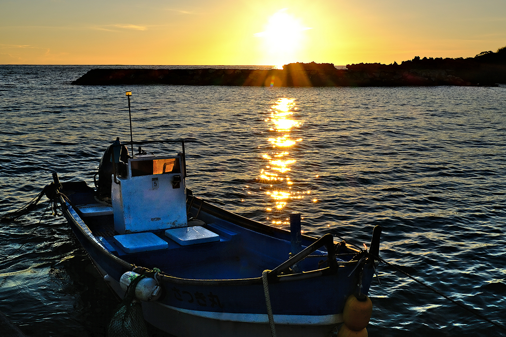
[[[77,208],[80,205],[96,203],[93,188],[84,182],[72,183],[67,190],[68,197]],[[66,185],[69,187],[69,185]],[[288,260],[291,252],[289,235],[276,237],[259,231],[250,230],[214,216],[206,216],[207,223],[202,227],[219,235],[219,241],[198,243],[189,246],[180,245],[165,236],[164,230],[148,231],[156,235],[163,249],[142,252],[128,252],[118,244],[114,236],[120,233],[114,230],[114,217],[109,214],[87,215],[82,220],[102,246],[122,260],[146,268],[158,268],[164,273],[188,279],[238,279],[260,277],[266,269],[272,270]],[[98,213],[97,213],[98,214]],[[128,234],[126,234],[128,235]],[[166,243],[166,244],[165,244]],[[311,244],[303,239],[303,248]],[[349,261],[356,252],[340,256]],[[326,259],[326,251],[318,250],[300,262],[304,271],[320,268],[319,262]],[[321,257],[318,257],[320,255]]]

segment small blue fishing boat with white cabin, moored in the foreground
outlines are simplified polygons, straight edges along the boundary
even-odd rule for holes
[[[157,143],[182,151],[156,156],[142,148]],[[175,336],[327,336],[343,322],[346,299],[367,294],[375,272],[381,230],[367,250],[329,233],[301,234],[298,213],[286,230],[195,196],[184,141],[117,138],[95,187],[53,177],[56,199],[104,281],[123,298],[135,276],[145,276],[135,288],[144,319]]]

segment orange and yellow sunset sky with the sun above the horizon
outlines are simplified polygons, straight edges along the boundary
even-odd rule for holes
[[[0,64],[390,64],[504,45],[505,0],[0,0]]]

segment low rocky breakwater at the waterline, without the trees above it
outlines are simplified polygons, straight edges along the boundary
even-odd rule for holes
[[[92,69],[75,85],[170,84],[237,86],[478,85],[452,70]]]

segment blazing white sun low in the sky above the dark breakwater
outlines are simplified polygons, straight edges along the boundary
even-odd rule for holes
[[[265,25],[265,31],[255,34],[264,39],[263,53],[277,68],[297,62],[297,53],[303,49],[304,31],[311,29],[286,10],[274,13]]]

